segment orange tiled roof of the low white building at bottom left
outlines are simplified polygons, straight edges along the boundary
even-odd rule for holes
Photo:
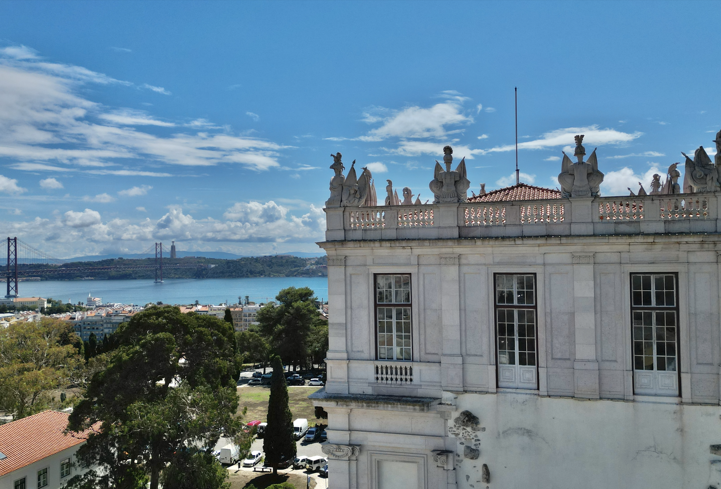
[[[63,433],[68,427],[67,413],[43,411],[0,426],[0,476],[26,467],[87,439],[83,433]]]

